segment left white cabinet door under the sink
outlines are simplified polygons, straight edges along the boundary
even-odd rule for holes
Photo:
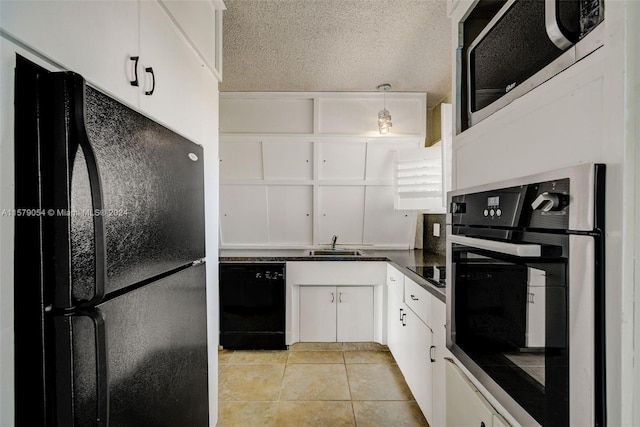
[[[336,288],[300,286],[300,341],[336,341]]]

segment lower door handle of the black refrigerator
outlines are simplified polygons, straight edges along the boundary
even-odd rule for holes
[[[107,334],[104,316],[99,309],[78,311],[78,316],[91,319],[96,351],[96,426],[109,425],[109,372],[107,370]]]

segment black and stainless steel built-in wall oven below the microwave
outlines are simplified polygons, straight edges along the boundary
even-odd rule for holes
[[[523,425],[604,425],[604,165],[449,202],[447,346]]]

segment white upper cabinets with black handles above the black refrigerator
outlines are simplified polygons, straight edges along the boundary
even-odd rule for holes
[[[179,3],[171,8],[188,10],[189,2]],[[213,10],[202,3],[197,8]],[[176,18],[161,3],[135,0],[3,1],[1,7],[2,29],[16,40],[203,143],[203,105],[217,93],[204,89],[210,87],[205,63],[176,22],[194,34],[214,27],[215,13],[191,21],[192,12]]]

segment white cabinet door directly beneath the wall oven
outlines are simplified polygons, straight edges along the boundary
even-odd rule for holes
[[[492,425],[493,408],[453,362],[446,364],[447,425]]]

